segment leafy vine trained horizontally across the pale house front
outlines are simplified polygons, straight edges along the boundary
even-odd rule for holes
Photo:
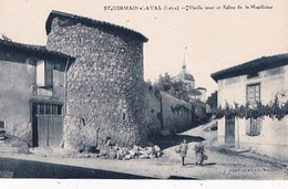
[[[213,109],[213,115],[216,118],[222,117],[239,117],[239,118],[257,118],[257,117],[270,117],[272,119],[281,120],[286,115],[288,115],[288,102],[280,105],[277,97],[270,104],[263,105],[257,103],[255,106],[249,104],[238,105],[234,104],[234,107],[228,104],[225,107],[219,106],[218,108]]]

